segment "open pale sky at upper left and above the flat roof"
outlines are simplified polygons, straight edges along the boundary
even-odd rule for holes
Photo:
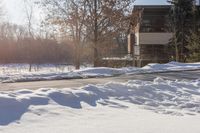
[[[2,0],[1,0],[2,1]],[[167,4],[167,0],[136,0],[137,5],[163,5]],[[24,24],[26,20],[23,0],[3,0],[6,19],[12,23]],[[35,10],[35,18],[40,18],[40,12]]]

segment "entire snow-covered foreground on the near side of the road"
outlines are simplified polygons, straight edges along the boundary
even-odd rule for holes
[[[200,80],[0,92],[1,133],[200,133]]]

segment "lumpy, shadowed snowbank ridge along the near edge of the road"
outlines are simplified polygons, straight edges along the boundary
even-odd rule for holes
[[[157,78],[153,82],[111,82],[79,89],[0,92],[0,126],[20,121],[24,114],[32,112],[31,107],[40,106],[40,114],[50,106],[65,107],[64,110],[69,111],[84,109],[85,104],[94,108],[106,106],[118,109],[136,105],[161,114],[197,115],[200,113],[200,80],[189,82]]]

